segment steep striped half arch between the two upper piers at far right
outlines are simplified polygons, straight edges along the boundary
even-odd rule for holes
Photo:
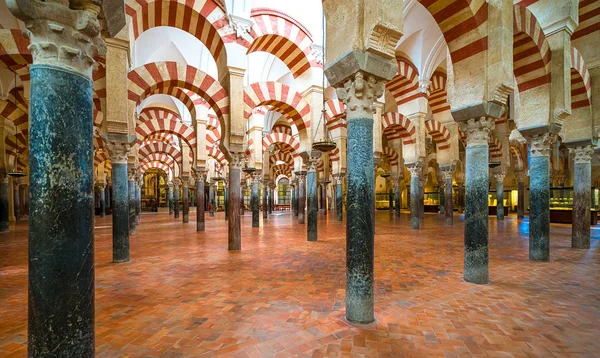
[[[513,7],[513,71],[519,92],[550,83],[552,52],[546,35],[526,7]]]

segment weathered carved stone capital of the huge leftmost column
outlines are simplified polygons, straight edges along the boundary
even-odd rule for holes
[[[66,67],[91,77],[94,56],[106,52],[98,20],[99,1],[8,0],[25,23],[34,64]],[[73,4],[77,3],[77,4]]]

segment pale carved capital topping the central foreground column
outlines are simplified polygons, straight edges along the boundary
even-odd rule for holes
[[[346,105],[347,117],[369,118],[375,113],[374,103],[383,95],[385,81],[365,72],[357,72],[337,89],[338,98]]]

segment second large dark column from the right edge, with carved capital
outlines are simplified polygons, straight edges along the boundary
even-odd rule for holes
[[[547,130],[547,126],[520,130],[529,141],[529,259],[532,261],[550,260],[550,150],[556,135]]]

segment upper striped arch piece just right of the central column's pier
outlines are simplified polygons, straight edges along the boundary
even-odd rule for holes
[[[386,84],[386,88],[396,100],[397,105],[408,103],[416,98],[425,97],[419,92],[419,71],[407,58],[396,57],[398,74]]]

